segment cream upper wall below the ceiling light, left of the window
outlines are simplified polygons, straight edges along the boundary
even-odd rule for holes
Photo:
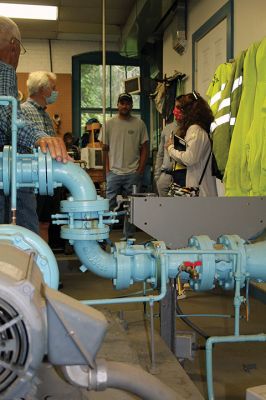
[[[27,53],[20,57],[17,72],[50,71],[50,51],[48,40],[23,40]],[[106,46],[109,51],[116,51],[115,43]],[[87,41],[51,41],[51,56],[53,72],[58,74],[72,73],[72,56],[90,51],[101,51],[101,42]]]

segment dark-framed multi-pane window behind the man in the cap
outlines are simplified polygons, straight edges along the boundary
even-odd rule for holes
[[[125,91],[125,79],[148,76],[148,65],[138,58],[106,53],[106,118],[117,112],[118,95]],[[102,53],[91,52],[72,57],[73,134],[81,136],[89,118],[103,121],[102,115]],[[133,95],[133,115],[140,116],[149,131],[149,98],[144,92]]]

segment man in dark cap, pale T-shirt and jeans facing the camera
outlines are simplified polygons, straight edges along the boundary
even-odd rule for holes
[[[105,137],[100,133],[103,143],[106,168],[106,196],[110,209],[116,206],[116,196],[130,195],[132,186],[140,187],[148,158],[148,133],[145,123],[131,115],[132,96],[121,93],[118,97],[118,115],[106,123]],[[134,234],[131,224],[124,229],[125,238]]]

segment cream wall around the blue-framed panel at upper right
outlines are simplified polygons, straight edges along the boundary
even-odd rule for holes
[[[173,75],[175,70],[185,73],[185,91],[192,88],[192,34],[199,29],[227,0],[189,0],[187,21],[187,48],[180,56],[172,48],[175,24],[168,27],[164,34],[163,73]],[[254,41],[266,36],[264,16],[266,14],[265,0],[235,0],[234,1],[234,53],[237,56],[241,50],[248,48]]]

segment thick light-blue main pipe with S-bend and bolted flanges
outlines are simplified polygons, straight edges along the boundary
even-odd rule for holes
[[[6,194],[10,176],[8,157],[5,152],[0,155],[0,174],[3,175]],[[61,236],[73,243],[83,268],[113,279],[118,289],[139,281],[154,283],[160,269],[159,254],[162,253],[167,255],[167,277],[174,278],[181,272],[180,276],[189,280],[194,290],[210,290],[215,283],[232,289],[236,279],[237,287],[243,287],[247,278],[266,280],[263,268],[265,242],[246,244],[236,235],[222,236],[219,249],[208,237],[195,236],[190,239],[189,247],[181,250],[167,250],[161,242],[156,242],[157,247],[152,245],[150,248],[118,243],[113,254],[106,254],[97,241],[108,238],[110,217],[115,213],[108,212],[108,200],[97,196],[88,174],[73,163],[62,164],[51,160],[49,154],[17,155],[18,187],[34,187],[42,194],[52,194],[53,188],[62,184],[68,188],[71,197],[61,202],[63,213],[57,216],[57,222],[63,225]],[[239,258],[240,265],[235,275]],[[192,269],[186,267],[187,263],[192,265]],[[237,296],[236,312],[239,300]]]

